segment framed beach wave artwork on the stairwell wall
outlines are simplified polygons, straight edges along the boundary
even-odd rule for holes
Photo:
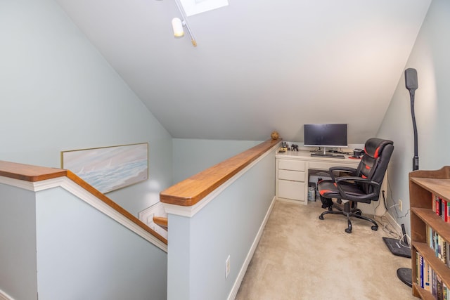
[[[148,179],[148,143],[61,151],[61,167],[108,193]]]

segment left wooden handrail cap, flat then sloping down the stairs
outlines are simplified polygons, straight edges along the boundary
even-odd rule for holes
[[[148,233],[158,238],[158,240],[160,240],[161,242],[167,244],[167,239],[165,239],[165,237],[162,237],[155,230],[151,229],[141,220],[130,214],[129,211],[125,210],[119,204],[115,203],[113,200],[110,200],[110,198],[106,197],[103,193],[100,193],[98,190],[93,188],[91,185],[89,185],[89,183],[86,183],[86,181],[84,181],[82,178],[79,178],[76,174],[72,173],[72,171],[33,166],[31,164],[18,164],[15,162],[5,162],[0,160],[0,176],[30,182],[44,181],[46,179],[66,176],[70,178],[70,180],[77,183],[77,185],[84,188],[84,190],[87,190],[89,193],[96,196],[99,200],[105,202],[105,204],[108,204],[108,206],[118,211],[131,222],[135,223],[143,230],[146,230]]]

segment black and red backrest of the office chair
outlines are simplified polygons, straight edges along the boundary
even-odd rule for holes
[[[375,181],[381,186],[393,151],[394,142],[382,138],[369,138],[364,145],[365,153],[359,162],[356,176]],[[360,188],[365,193],[380,193],[379,188],[375,191],[371,185],[362,184]]]

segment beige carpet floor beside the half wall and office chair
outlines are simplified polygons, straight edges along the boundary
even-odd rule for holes
[[[352,219],[348,234],[344,216],[321,221],[322,211],[320,202],[276,202],[237,300],[417,299],[397,278],[411,259],[391,254],[380,222],[373,231]]]

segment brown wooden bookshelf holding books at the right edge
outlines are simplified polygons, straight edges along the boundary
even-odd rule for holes
[[[436,299],[432,292],[420,287],[418,256],[422,256],[434,273],[450,289],[450,268],[437,258],[429,244],[427,228],[432,228],[442,240],[450,243],[450,223],[445,222],[433,209],[435,197],[450,202],[450,166],[436,171],[412,171],[409,174],[409,197],[411,205],[411,269],[413,295],[421,299]],[[450,255],[450,254],[447,254]]]

